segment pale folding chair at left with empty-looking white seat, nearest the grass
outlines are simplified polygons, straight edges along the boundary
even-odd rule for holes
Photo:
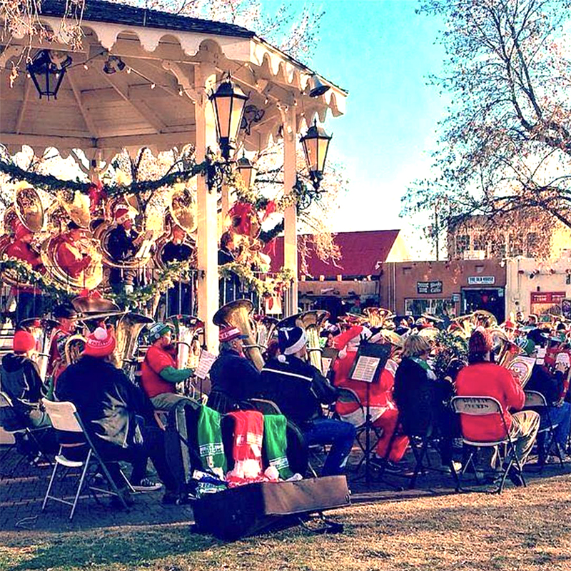
[[[99,470],[101,475],[105,478],[109,485],[109,489],[105,490],[100,487],[96,487],[94,485],[89,485],[89,491],[94,495],[94,498],[97,500],[96,492],[101,492],[103,495],[113,495],[119,498],[123,507],[127,507],[125,498],[123,494],[118,489],[116,482],[111,477],[109,470],[107,468],[106,463],[101,458],[101,455],[98,454],[94,443],[92,442],[91,438],[89,438],[89,434],[85,430],[84,423],[81,422],[81,418],[77,413],[76,407],[73,403],[68,402],[61,402],[61,403],[54,403],[50,400],[46,400],[45,398],[42,399],[42,403],[44,403],[44,407],[46,408],[46,412],[49,415],[51,420],[52,426],[56,430],[61,430],[66,433],[76,433],[81,435],[82,444],[86,445],[87,447],[87,455],[84,460],[69,460],[64,455],[64,450],[69,448],[69,445],[60,445],[59,453],[56,455],[56,462],[54,465],[54,470],[51,473],[51,477],[49,480],[48,489],[46,490],[46,495],[44,496],[44,502],[41,505],[41,511],[43,512],[46,510],[46,504],[48,500],[54,500],[56,502],[60,502],[66,505],[71,505],[71,512],[69,514],[69,519],[72,520],[74,517],[74,513],[76,510],[77,502],[79,500],[79,495],[81,490],[84,487],[84,482],[86,480],[86,475],[88,474],[89,468]],[[71,445],[75,446],[75,445]],[[81,475],[79,477],[79,484],[76,489],[75,497],[73,502],[69,502],[68,500],[64,500],[63,497],[56,497],[50,495],[51,488],[54,485],[54,480],[56,479],[56,473],[58,471],[59,466],[63,466],[64,468],[81,468]],[[128,480],[119,469],[119,473],[125,480],[126,484],[128,484]]]

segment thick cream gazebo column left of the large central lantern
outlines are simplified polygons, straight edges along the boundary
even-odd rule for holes
[[[201,63],[195,68],[195,86],[206,92],[195,103],[196,161],[203,161],[208,147],[216,149],[216,123],[208,92],[216,84],[213,65]],[[198,176],[198,317],[205,324],[206,347],[218,352],[218,328],[212,318],[218,310],[218,213],[216,189],[208,191],[206,176]]]

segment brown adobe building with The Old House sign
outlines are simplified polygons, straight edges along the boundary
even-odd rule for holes
[[[475,309],[505,319],[505,262],[499,259],[385,263],[380,306],[398,315],[462,315]]]

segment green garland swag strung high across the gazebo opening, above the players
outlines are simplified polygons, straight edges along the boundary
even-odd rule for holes
[[[216,164],[216,163],[215,163]],[[103,185],[102,191],[107,196],[124,196],[126,194],[138,194],[144,192],[153,192],[163,186],[173,186],[176,183],[184,183],[198,174],[205,173],[208,166],[212,165],[212,160],[208,159],[200,164],[194,164],[188,171],[179,171],[171,173],[159,178],[157,181],[141,181],[133,182],[129,185],[113,184]],[[74,191],[82,194],[89,194],[91,183],[82,183],[80,181],[62,181],[60,178],[51,174],[38,174],[24,171],[24,169],[14,164],[0,161],[0,172],[5,173],[12,181],[26,181],[34,188],[41,188],[50,194],[56,194],[59,191]]]

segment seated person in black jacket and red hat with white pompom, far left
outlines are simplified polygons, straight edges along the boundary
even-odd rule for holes
[[[89,437],[104,460],[123,460],[133,465],[131,485],[148,491],[160,487],[146,478],[151,458],[163,484],[166,498],[174,495],[176,482],[168,468],[163,433],[154,418],[153,406],[121,369],[109,363],[116,341],[111,331],[97,328],[88,335],[84,354],[61,373],[56,385],[57,400],[68,400],[77,408]],[[66,456],[76,448],[66,451]],[[75,452],[76,454],[82,453]],[[70,458],[73,460],[73,458]],[[115,465],[109,470],[118,487],[124,487]]]

